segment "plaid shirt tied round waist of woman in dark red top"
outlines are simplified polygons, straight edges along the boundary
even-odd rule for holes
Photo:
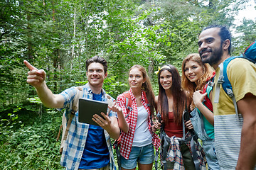
[[[187,137],[191,137],[190,132],[186,133],[186,138]],[[181,138],[179,138],[179,137],[172,136],[170,138],[170,147],[169,147],[169,150],[167,152],[166,161],[174,162],[174,169],[175,170],[185,170],[182,155],[181,155],[180,145],[179,145],[179,142],[178,142],[178,140],[180,140],[180,139]],[[195,142],[195,147],[196,147],[196,153],[198,155],[197,158],[198,158],[198,162],[199,162],[199,167],[200,167],[201,170],[206,170],[206,155],[203,152],[203,147],[201,147],[201,145],[199,144],[198,141],[194,141],[194,142]],[[191,142],[190,141],[186,142],[186,145],[188,146],[188,148],[189,148],[189,150],[192,154]],[[163,164],[162,160],[161,160],[161,164]]]

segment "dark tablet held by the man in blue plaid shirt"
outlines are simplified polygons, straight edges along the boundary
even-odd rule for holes
[[[97,125],[95,121],[92,120],[92,115],[101,115],[101,112],[107,114],[108,104],[103,101],[94,101],[88,98],[79,98],[78,105],[78,121],[80,123],[87,123],[90,125]],[[103,118],[104,119],[104,118]]]

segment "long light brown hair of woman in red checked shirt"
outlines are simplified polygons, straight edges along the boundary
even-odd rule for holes
[[[153,116],[154,115],[155,103],[154,103],[154,91],[153,91],[153,88],[152,88],[152,85],[151,85],[151,81],[149,79],[148,74],[146,73],[146,69],[143,66],[141,66],[139,64],[135,64],[134,66],[132,66],[129,69],[129,72],[134,68],[139,69],[139,71],[142,72],[143,78],[146,80],[142,84],[142,90],[146,92],[146,98],[149,101],[150,114]]]

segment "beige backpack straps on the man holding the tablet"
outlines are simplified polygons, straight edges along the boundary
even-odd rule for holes
[[[58,137],[57,137],[57,140],[56,140],[56,141],[59,140],[60,131],[63,130],[63,135],[61,137],[61,142],[60,142],[60,154],[62,154],[62,152],[63,152],[63,146],[64,146],[64,143],[65,143],[65,140],[67,140],[67,137],[68,137],[68,131],[69,131],[69,128],[70,128],[70,124],[73,120],[73,117],[74,117],[75,113],[78,111],[78,99],[82,98],[82,94],[84,94],[82,86],[77,86],[77,87],[75,87],[75,89],[76,89],[76,94],[75,94],[75,97],[74,97],[72,109],[70,111],[70,117],[68,118],[68,123],[67,123],[67,118],[65,117],[65,113],[63,113],[62,124],[60,125],[60,129],[59,129],[59,132],[58,132]],[[108,105],[112,106],[113,101],[111,100],[112,99],[111,96],[106,94],[106,97],[107,97]],[[108,109],[107,115],[108,115],[108,113],[110,113],[110,109]]]

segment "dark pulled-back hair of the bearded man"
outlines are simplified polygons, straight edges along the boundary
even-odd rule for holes
[[[207,29],[210,29],[210,28],[220,28],[219,35],[220,35],[220,38],[221,38],[221,45],[223,45],[223,42],[225,40],[230,40],[230,46],[228,47],[228,54],[230,55],[230,50],[231,50],[231,33],[228,30],[228,28],[225,27],[225,26],[220,26],[220,25],[212,25],[212,26],[208,26],[206,28],[203,28],[203,30],[207,30]]]

